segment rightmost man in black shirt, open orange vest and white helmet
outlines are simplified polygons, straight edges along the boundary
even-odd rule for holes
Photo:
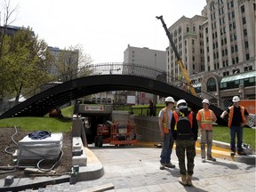
[[[228,127],[229,127],[229,136],[230,136],[230,150],[231,156],[236,155],[236,147],[238,155],[246,155],[244,149],[242,148],[243,144],[243,127],[247,122],[249,113],[247,110],[240,106],[240,98],[234,96],[233,106],[227,108],[221,114],[221,118],[224,118],[228,114]],[[236,136],[237,136],[237,145],[236,145]]]

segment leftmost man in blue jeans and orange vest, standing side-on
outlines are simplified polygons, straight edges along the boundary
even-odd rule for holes
[[[158,115],[159,130],[163,139],[163,147],[160,155],[160,170],[164,170],[164,167],[175,168],[175,165],[171,163],[174,142],[171,132],[171,122],[172,108],[175,101],[172,97],[167,97],[164,101],[166,107],[161,109]]]

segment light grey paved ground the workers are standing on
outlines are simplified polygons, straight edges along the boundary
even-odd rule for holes
[[[255,164],[244,164],[230,158],[229,150],[213,147],[212,156],[216,162],[201,162],[200,148],[196,144],[195,172],[193,175],[194,187],[183,187],[178,182],[180,177],[179,162],[172,152],[174,169],[159,169],[159,156],[161,148],[155,143],[138,143],[133,147],[103,146],[103,148],[87,148],[88,154],[88,180],[70,184],[68,176],[63,176],[59,184],[56,178],[20,179],[17,183],[32,184],[41,181],[39,189],[22,189],[21,191],[104,191],[100,187],[112,186],[109,192],[164,192],[164,191],[246,191],[255,192]],[[96,167],[96,169],[95,169]],[[98,168],[97,168],[98,167]],[[103,168],[102,168],[103,167]],[[92,171],[92,168],[94,171]],[[99,179],[90,180],[90,175],[101,174]],[[98,172],[98,173],[97,173]],[[99,175],[98,175],[99,176]],[[47,179],[47,180],[46,180]],[[18,180],[18,179],[17,179]],[[43,180],[46,180],[44,183]],[[54,182],[55,181],[55,182]],[[51,184],[52,183],[52,184]],[[45,187],[46,185],[46,187]],[[0,191],[3,191],[4,180],[0,180]],[[45,187],[45,188],[44,188]],[[6,188],[5,188],[6,189]],[[6,191],[6,190],[5,190]]]

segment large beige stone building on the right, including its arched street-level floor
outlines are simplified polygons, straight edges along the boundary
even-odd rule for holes
[[[255,99],[255,12],[255,0],[206,0],[201,16],[183,16],[169,28],[192,84],[212,103],[234,94]],[[166,55],[167,74],[182,79],[171,44]]]

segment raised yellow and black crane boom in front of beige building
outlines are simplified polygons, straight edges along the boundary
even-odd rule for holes
[[[165,30],[165,32],[166,32],[166,36],[168,36],[169,41],[170,41],[170,43],[171,43],[171,45],[172,45],[172,49],[173,49],[173,51],[175,52],[175,55],[176,55],[176,57],[177,57],[177,60],[178,60],[179,66],[180,66],[181,73],[183,74],[183,76],[184,76],[184,78],[185,78],[185,80],[186,80],[186,83],[187,83],[188,86],[189,86],[189,91],[190,91],[193,95],[196,96],[195,88],[193,87],[192,82],[191,82],[191,80],[190,80],[190,78],[189,78],[189,76],[188,76],[187,70],[186,70],[185,66],[183,65],[183,63],[182,63],[182,60],[181,60],[181,58],[180,58],[180,54],[179,54],[179,52],[177,51],[177,49],[176,49],[176,47],[175,47],[175,44],[174,44],[173,41],[172,41],[172,36],[171,36],[171,34],[170,34],[168,28],[166,28],[166,25],[165,25],[164,19],[163,19],[163,15],[161,15],[161,16],[159,16],[159,17],[156,16],[156,19],[157,19],[157,20],[161,20],[161,22],[162,22],[162,24],[163,24],[163,27],[164,27],[164,30]]]

